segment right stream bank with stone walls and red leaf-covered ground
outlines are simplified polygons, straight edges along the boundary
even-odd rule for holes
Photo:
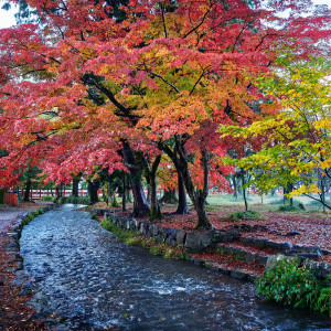
[[[235,210],[232,206],[232,210]],[[225,207],[210,209],[212,231],[194,228],[196,215],[177,215],[168,207],[163,220],[150,223],[148,217],[132,218],[129,212],[94,207],[99,217],[114,217],[122,229],[151,238],[159,245],[182,246],[195,265],[254,281],[263,276],[268,257],[298,255],[311,260],[316,276],[331,274],[331,220],[327,214],[264,212],[260,218],[229,221]]]

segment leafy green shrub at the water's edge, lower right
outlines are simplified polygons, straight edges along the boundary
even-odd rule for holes
[[[284,258],[256,280],[257,293],[267,300],[309,308],[331,316],[331,287],[310,270],[299,267],[299,258]]]

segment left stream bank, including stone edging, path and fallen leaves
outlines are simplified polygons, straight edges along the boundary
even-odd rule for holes
[[[1,330],[43,330],[42,322],[35,319],[35,309],[29,301],[36,286],[23,271],[19,239],[25,224],[52,207],[34,204],[1,210],[1,239],[3,239],[0,247],[2,249],[0,301],[2,300],[3,308],[0,312]]]

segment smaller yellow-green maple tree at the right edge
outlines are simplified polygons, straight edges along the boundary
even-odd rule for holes
[[[286,61],[290,60],[289,56]],[[331,180],[330,64],[329,58],[312,57],[289,64],[277,76],[265,77],[257,84],[280,103],[281,113],[249,127],[222,128],[224,135],[244,139],[268,137],[255,154],[228,160],[255,171],[250,183],[260,193],[278,185],[290,186],[289,197],[305,194],[331,207],[324,197],[325,182]]]

